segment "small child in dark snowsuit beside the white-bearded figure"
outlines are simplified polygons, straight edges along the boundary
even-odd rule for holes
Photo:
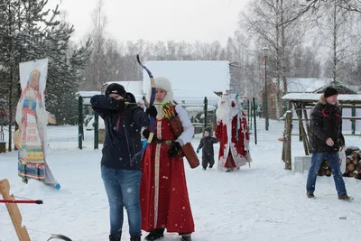
[[[202,139],[200,139],[199,146],[197,148],[197,153],[199,153],[199,150],[203,148],[202,150],[202,166],[203,170],[207,169],[207,166],[209,164],[209,168],[212,168],[214,165],[214,149],[213,144],[217,144],[218,141],[215,137],[211,136],[211,131],[209,128],[206,128]]]

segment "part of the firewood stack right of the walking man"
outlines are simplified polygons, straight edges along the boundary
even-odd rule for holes
[[[358,148],[347,148],[346,150],[346,170],[344,177],[354,177],[361,179],[361,152]]]

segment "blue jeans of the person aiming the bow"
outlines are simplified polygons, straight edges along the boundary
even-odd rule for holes
[[[110,208],[110,235],[121,237],[123,207],[126,209],[130,236],[141,236],[141,207],[139,189],[142,171],[113,169],[101,166]]]

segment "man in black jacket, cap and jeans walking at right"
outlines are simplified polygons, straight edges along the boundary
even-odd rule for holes
[[[319,98],[319,103],[310,113],[310,145],[312,158],[307,179],[307,197],[314,198],[314,190],[319,167],[327,158],[338,190],[338,199],[349,200],[345,182],[339,168],[338,151],[345,146],[342,134],[341,110],[338,107],[338,91],[328,87]]]

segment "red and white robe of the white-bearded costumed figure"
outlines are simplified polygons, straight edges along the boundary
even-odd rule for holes
[[[248,154],[249,134],[243,111],[227,124],[219,120],[215,135],[219,140],[218,170],[239,169],[252,161]]]

